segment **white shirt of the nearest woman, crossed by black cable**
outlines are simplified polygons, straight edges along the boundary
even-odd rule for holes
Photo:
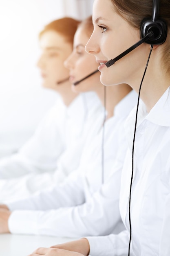
[[[131,195],[131,256],[170,255],[170,89],[149,113],[139,104]],[[126,231],[88,238],[92,256],[128,255],[128,202],[136,109],[126,121],[128,153],[121,177],[120,212]]]

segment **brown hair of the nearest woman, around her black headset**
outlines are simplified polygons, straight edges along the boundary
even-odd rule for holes
[[[111,0],[115,10],[126,19],[131,26],[140,29],[144,18],[152,17],[153,0]],[[159,18],[168,26],[167,43],[163,44],[163,63],[170,73],[170,0],[160,0]]]

